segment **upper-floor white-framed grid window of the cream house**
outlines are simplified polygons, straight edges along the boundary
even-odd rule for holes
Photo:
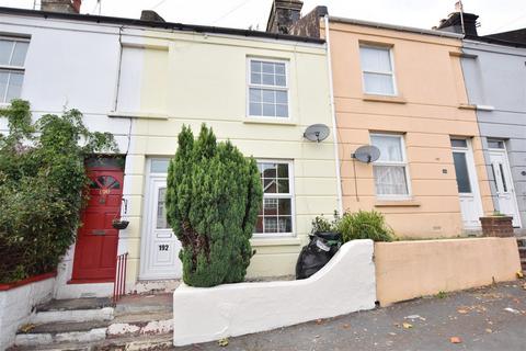
[[[250,116],[288,117],[287,63],[249,59]]]

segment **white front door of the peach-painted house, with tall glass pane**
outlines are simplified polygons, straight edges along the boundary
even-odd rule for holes
[[[478,229],[483,212],[471,146],[468,139],[451,138],[451,147],[464,228]]]

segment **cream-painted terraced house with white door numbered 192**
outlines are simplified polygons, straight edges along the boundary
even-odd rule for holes
[[[302,137],[311,124],[331,125],[324,45],[222,33],[141,34],[123,35],[121,89],[111,114],[132,117],[124,180],[132,224],[122,237],[128,273],[180,278],[180,244],[161,213],[168,159],[183,124],[198,133],[207,123],[219,139],[256,158],[265,177],[264,213],[272,215],[260,216],[249,276],[293,274],[311,219],[338,208],[333,139]],[[167,246],[169,252],[160,251]]]

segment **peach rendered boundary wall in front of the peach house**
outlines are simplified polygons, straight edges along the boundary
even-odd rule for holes
[[[376,242],[375,263],[381,306],[512,281],[521,270],[515,238]]]

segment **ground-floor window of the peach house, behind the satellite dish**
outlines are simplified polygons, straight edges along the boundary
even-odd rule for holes
[[[403,137],[395,134],[373,134],[370,141],[380,149],[380,158],[373,165],[376,195],[387,199],[409,197],[409,173]]]

